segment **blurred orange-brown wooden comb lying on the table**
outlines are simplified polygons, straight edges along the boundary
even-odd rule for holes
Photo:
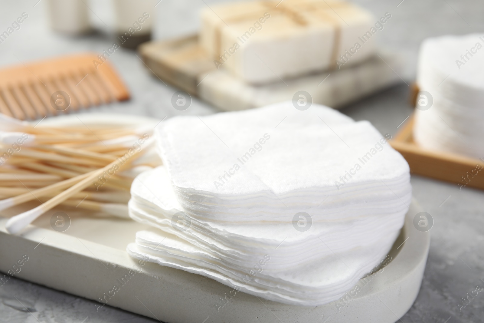
[[[0,70],[0,113],[20,120],[127,99],[129,92],[121,79],[112,66],[102,63],[96,54],[61,57]]]

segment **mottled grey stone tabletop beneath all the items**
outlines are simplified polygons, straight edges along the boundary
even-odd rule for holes
[[[153,5],[159,0],[153,0]],[[0,1],[0,33],[26,12],[29,17],[21,28],[0,44],[0,65],[18,64],[79,51],[102,52],[109,48],[112,14],[108,0],[85,2],[93,13],[93,24],[103,32],[68,38],[49,30],[46,0]],[[209,0],[162,0],[156,5],[155,35],[165,38],[197,30],[197,10]],[[484,30],[484,2],[472,0],[357,0],[375,16],[386,12],[392,18],[378,42],[400,52],[406,60],[402,83],[341,111],[356,120],[369,120],[382,133],[394,135],[411,113],[408,84],[415,77],[420,42],[441,34],[465,34]],[[104,26],[104,27],[103,27]],[[20,61],[20,62],[19,62]],[[132,100],[91,111],[109,111],[149,115],[160,120],[175,114],[210,114],[214,108],[194,99],[183,112],[171,107],[176,89],[152,77],[135,53],[120,49],[110,57],[132,92]],[[482,175],[481,175],[482,176]],[[484,287],[484,192],[471,188],[459,190],[456,184],[412,176],[413,194],[424,210],[434,218],[432,241],[422,288],[415,304],[401,322],[483,322],[484,293],[467,303],[463,297]],[[0,246],[1,247],[1,246]],[[0,303],[1,322],[152,322],[117,308],[104,307],[96,312],[94,302],[38,286],[16,278],[0,287],[0,297],[15,296],[35,311],[23,312]],[[465,307],[464,307],[465,305]],[[400,322],[400,321],[399,321]]]

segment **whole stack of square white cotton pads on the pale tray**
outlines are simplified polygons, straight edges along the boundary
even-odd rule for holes
[[[164,166],[132,185],[135,258],[286,304],[338,299],[385,258],[411,199],[403,157],[368,122],[291,102],[158,129]]]

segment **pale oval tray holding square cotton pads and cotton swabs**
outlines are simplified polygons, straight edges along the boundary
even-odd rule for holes
[[[104,298],[107,305],[167,323],[392,323],[408,311],[420,289],[430,243],[429,232],[413,225],[421,211],[413,201],[390,252],[392,260],[380,273],[363,278],[361,290],[348,292],[345,302],[318,307],[288,306],[238,292],[217,308],[230,287],[154,263],[141,266],[128,256],[127,244],[145,225],[73,211],[68,211],[72,221],[64,232],[51,229],[54,211],[20,235],[7,233],[6,219],[0,218],[0,271],[7,273],[27,255],[29,260],[15,277],[96,301],[114,294]],[[112,292],[115,285],[119,290]]]

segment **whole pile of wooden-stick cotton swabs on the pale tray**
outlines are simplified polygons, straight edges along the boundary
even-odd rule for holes
[[[10,233],[60,204],[129,218],[133,179],[159,165],[149,149],[152,127],[80,124],[43,126],[0,114],[0,211],[39,203],[7,221]]]

